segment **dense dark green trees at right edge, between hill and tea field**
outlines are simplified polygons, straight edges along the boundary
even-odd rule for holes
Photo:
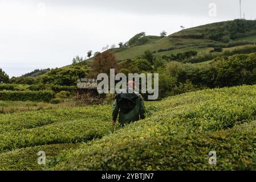
[[[190,65],[184,76],[183,80],[210,88],[256,84],[256,53],[218,57],[205,67]]]

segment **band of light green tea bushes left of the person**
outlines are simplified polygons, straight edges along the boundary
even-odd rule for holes
[[[115,129],[109,106],[28,111],[0,115],[0,152],[55,143],[79,143]],[[104,110],[106,111],[104,111]],[[75,131],[75,132],[74,132]]]

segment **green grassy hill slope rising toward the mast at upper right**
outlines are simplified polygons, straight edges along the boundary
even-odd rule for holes
[[[255,20],[232,20],[217,22],[203,26],[188,28],[176,32],[168,37],[145,36],[140,45],[134,44],[127,48],[113,48],[117,60],[134,59],[143,55],[147,50],[155,56],[176,55],[186,51],[209,52],[213,46],[237,47],[235,44],[243,42],[243,45],[256,43],[256,21]],[[229,44],[229,45],[228,45]],[[234,44],[232,46],[231,44]],[[160,49],[170,49],[160,51]],[[94,57],[88,59],[91,63]]]

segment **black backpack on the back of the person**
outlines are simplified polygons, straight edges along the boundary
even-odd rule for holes
[[[135,93],[119,93],[116,96],[117,106],[123,114],[127,114],[134,109],[138,98]]]

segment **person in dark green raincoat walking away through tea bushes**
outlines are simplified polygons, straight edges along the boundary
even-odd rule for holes
[[[145,118],[145,106],[143,97],[141,94],[135,92],[134,88],[135,82],[128,81],[127,89],[121,89],[120,93],[117,94],[112,108],[113,125],[116,124],[118,115],[119,124],[121,126]]]

